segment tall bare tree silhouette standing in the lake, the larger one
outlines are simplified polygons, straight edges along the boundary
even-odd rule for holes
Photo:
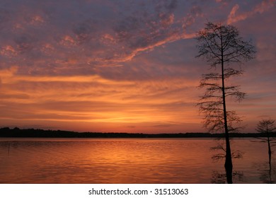
[[[233,76],[240,76],[243,70],[231,67],[232,64],[241,65],[254,58],[255,48],[251,42],[243,41],[239,37],[237,28],[221,23],[207,23],[204,30],[197,34],[197,57],[203,57],[214,70],[203,74],[200,88],[206,88],[205,94],[200,98],[200,112],[205,115],[204,126],[209,132],[224,132],[225,134],[225,163],[227,182],[232,183],[232,157],[229,141],[229,132],[237,130],[234,127],[241,118],[235,111],[226,110],[226,98],[232,97],[241,101],[246,93],[239,91],[239,86],[226,85],[226,81]]]

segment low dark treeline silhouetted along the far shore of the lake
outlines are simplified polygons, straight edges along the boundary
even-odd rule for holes
[[[231,137],[261,137],[264,133],[231,133]],[[271,136],[276,137],[276,133]],[[69,132],[60,130],[43,129],[0,129],[0,137],[57,137],[57,138],[217,138],[224,137],[224,134],[209,133],[178,133],[178,134],[130,134],[130,133],[99,133],[99,132]]]

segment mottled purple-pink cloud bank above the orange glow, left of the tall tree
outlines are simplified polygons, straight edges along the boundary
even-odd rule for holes
[[[22,74],[57,75],[120,66],[141,52],[194,37],[188,27],[201,13],[193,6],[184,17],[176,16],[183,6],[176,0],[134,2],[124,13],[117,9],[128,3],[78,2],[6,1],[0,10],[8,19],[2,23],[0,55],[7,66],[17,64]]]

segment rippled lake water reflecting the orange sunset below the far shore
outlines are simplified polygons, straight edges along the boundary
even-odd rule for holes
[[[0,139],[0,183],[224,183],[214,139]],[[235,139],[234,183],[276,181],[266,144]],[[272,154],[273,155],[273,154]]]

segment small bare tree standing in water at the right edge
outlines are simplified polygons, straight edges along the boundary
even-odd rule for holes
[[[264,133],[264,137],[256,137],[260,139],[260,142],[264,142],[268,144],[268,158],[269,158],[269,165],[271,170],[271,154],[272,154],[272,146],[276,146],[276,138],[272,136],[273,132],[276,132],[275,127],[275,120],[261,120],[256,127],[256,131],[260,133]]]

